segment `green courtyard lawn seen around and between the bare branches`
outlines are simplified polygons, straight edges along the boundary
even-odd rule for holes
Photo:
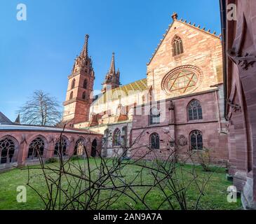
[[[97,163],[99,162],[99,160],[90,159],[90,169],[95,168],[95,162]],[[77,164],[83,163],[83,161],[76,160],[73,163],[74,165],[77,165]],[[50,165],[46,165],[46,166],[55,167],[55,166],[58,166],[58,162]],[[35,167],[39,167],[39,166],[35,166]],[[129,167],[123,168],[121,171],[123,180],[130,181],[132,179],[135,179],[137,174],[140,173],[140,170],[141,168],[136,166],[133,166],[133,167],[129,166]],[[186,185],[186,181],[189,182],[189,180],[191,180],[192,178],[190,174],[191,170],[192,170],[192,166],[190,165],[182,166],[183,181],[185,185]],[[203,183],[204,179],[206,179],[209,175],[212,175],[210,177],[210,181],[208,182],[208,185],[206,186],[204,195],[201,197],[201,201],[198,209],[210,209],[210,210],[240,209],[241,208],[240,199],[238,199],[238,202],[236,203],[227,202],[227,188],[228,186],[231,186],[232,183],[227,181],[225,170],[222,168],[217,169],[215,167],[213,167],[212,170],[214,172],[203,172],[201,167],[196,167],[196,172],[198,174],[198,183]],[[42,174],[41,169],[31,169],[30,170],[31,179],[29,183],[34,188],[36,188],[36,190],[39,190],[40,193],[45,194],[47,191],[46,183],[41,174]],[[55,174],[52,174],[52,175],[54,176]],[[92,175],[96,176],[96,174],[93,174],[93,173]],[[18,194],[16,189],[18,186],[26,186],[27,179],[28,179],[27,170],[12,169],[11,171],[0,174],[0,209],[44,209],[45,208],[40,197],[36,195],[34,190],[32,190],[32,188],[29,188],[28,186],[27,186],[27,202],[18,203],[16,201],[16,196]],[[149,172],[147,172],[147,170],[142,172],[142,179],[145,181],[145,183],[151,183],[152,178]],[[180,171],[177,172],[177,179],[180,179],[180,181],[182,181],[182,175]],[[72,184],[74,186],[76,185],[74,181]],[[138,195],[143,195],[148,188],[137,187],[134,189]],[[131,192],[128,192],[128,193],[130,194]],[[104,197],[104,195],[109,195],[109,191],[106,190],[104,193],[102,193],[101,197]],[[198,195],[199,193],[196,188],[196,185],[191,184],[191,186],[189,186],[187,190],[187,204],[189,209],[194,209],[193,205],[195,204],[198,198]],[[164,197],[161,190],[159,190],[158,188],[154,188],[149,192],[145,201],[147,202],[147,204],[149,204],[150,209],[157,209],[159,207],[159,204],[163,202],[163,199]],[[130,200],[129,197],[126,197],[124,195],[121,196],[119,200],[114,202],[114,204],[109,206],[109,209],[129,209],[127,204],[130,204],[131,206],[133,205],[135,209],[145,209],[142,203],[138,202],[137,204],[134,204],[134,202]],[[175,208],[178,209],[179,207],[175,206]],[[170,209],[170,205],[168,203],[163,203],[163,206],[161,207],[161,209]]]

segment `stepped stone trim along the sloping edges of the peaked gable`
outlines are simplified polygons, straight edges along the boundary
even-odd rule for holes
[[[155,49],[154,53],[152,54],[152,57],[149,59],[149,62],[147,63],[147,65],[150,64],[150,62],[152,61],[152,59],[153,59],[154,56],[156,55],[156,52],[157,52],[157,50],[159,50],[159,47],[161,46],[161,43],[163,43],[164,39],[166,38],[166,36],[167,36],[167,34],[168,34],[168,31],[170,31],[170,29],[173,27],[174,22],[180,22],[180,23],[182,23],[182,24],[184,24],[184,25],[187,25],[187,26],[189,26],[189,27],[191,27],[191,28],[197,29],[198,31],[202,31],[202,32],[204,32],[204,33],[206,33],[206,34],[208,34],[208,35],[210,35],[210,36],[215,37],[215,38],[220,38],[220,37],[222,36],[222,34],[220,34],[220,35],[217,36],[215,31],[214,31],[213,34],[212,34],[212,33],[210,32],[210,29],[206,30],[205,27],[203,27],[203,28],[201,29],[201,26],[200,26],[200,25],[196,26],[195,23],[194,23],[194,24],[191,24],[191,22],[187,22],[187,20],[183,20],[183,19],[177,20],[177,13],[173,13],[172,18],[173,18],[173,22],[168,26],[168,29],[166,29],[166,33],[163,34],[163,38],[160,40],[159,45],[157,45],[157,48]]]

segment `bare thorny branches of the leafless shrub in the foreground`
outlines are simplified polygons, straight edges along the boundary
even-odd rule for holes
[[[131,210],[136,209],[137,204],[148,210],[163,209],[164,205],[169,209],[199,209],[201,197],[205,194],[205,188],[213,173],[198,179],[194,163],[191,169],[184,169],[183,165],[177,162],[176,144],[170,148],[165,159],[161,160],[159,155],[156,155],[155,160],[151,162],[144,160],[148,153],[154,154],[154,149],[150,145],[140,145],[140,137],[143,134],[144,132],[130,146],[124,146],[123,153],[121,155],[116,153],[114,158],[103,158],[102,152],[97,151],[97,158],[93,161],[93,158],[89,159],[88,152],[85,150],[83,160],[74,161],[72,157],[63,158],[60,147],[59,163],[48,166],[39,156],[40,167],[22,168],[28,170],[27,185],[41,197],[46,210],[108,210],[124,198],[126,208]],[[60,135],[59,146],[62,145],[61,141],[62,135]],[[144,147],[148,150],[140,157],[135,160],[123,160],[127,151],[140,151]],[[39,150],[38,153],[40,155]],[[190,156],[187,159],[192,160]],[[132,178],[127,176],[126,179],[127,170],[136,169],[136,167],[135,176]],[[40,189],[30,182],[33,178],[33,169],[42,171],[43,185],[47,186],[46,192],[40,192]],[[185,173],[190,176],[187,181],[184,180]],[[191,185],[195,186],[194,192],[198,197],[196,202],[189,205],[187,191]],[[148,197],[154,190],[159,192],[162,198],[152,207]]]

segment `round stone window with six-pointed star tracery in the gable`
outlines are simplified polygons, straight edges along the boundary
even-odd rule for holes
[[[178,96],[196,90],[201,81],[201,73],[198,73],[195,69],[191,69],[191,66],[186,68],[177,68],[174,71],[170,71],[163,78],[162,89],[166,90],[168,94]],[[192,66],[193,67],[193,66]]]

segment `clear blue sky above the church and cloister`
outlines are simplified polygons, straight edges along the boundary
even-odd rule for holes
[[[18,21],[18,3],[27,21]],[[95,90],[101,89],[112,52],[121,83],[146,77],[147,62],[176,11],[220,33],[218,0],[1,0],[0,111],[15,120],[34,90],[65,100],[67,76],[90,35]]]

